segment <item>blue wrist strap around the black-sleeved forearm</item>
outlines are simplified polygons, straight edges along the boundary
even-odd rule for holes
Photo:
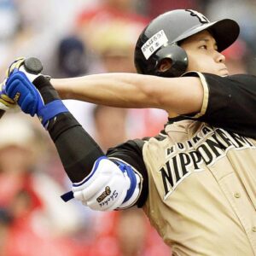
[[[65,107],[61,100],[55,100],[45,104],[43,108],[38,110],[38,118],[40,119],[42,125],[47,125],[49,119],[53,119],[59,113],[67,113],[68,109]]]

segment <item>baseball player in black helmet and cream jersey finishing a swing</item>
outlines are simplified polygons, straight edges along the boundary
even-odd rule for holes
[[[229,75],[221,54],[238,34],[234,20],[173,10],[138,38],[139,74],[49,80],[21,59],[2,95],[49,131],[73,183],[65,200],[99,211],[143,207],[173,255],[256,255],[256,78]],[[162,108],[169,119],[157,136],[103,154],[61,98]]]

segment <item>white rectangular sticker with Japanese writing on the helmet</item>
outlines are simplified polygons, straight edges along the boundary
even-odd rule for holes
[[[146,60],[148,60],[149,57],[153,55],[157,49],[160,49],[160,47],[167,42],[168,38],[166,37],[166,33],[163,30],[156,32],[153,37],[149,38],[148,41],[143,44],[141,48]]]

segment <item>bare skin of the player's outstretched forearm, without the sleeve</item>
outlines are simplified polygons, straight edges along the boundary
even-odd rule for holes
[[[136,73],[105,73],[74,79],[51,79],[62,99],[119,108],[161,108],[171,113],[201,111],[201,79],[160,78]]]

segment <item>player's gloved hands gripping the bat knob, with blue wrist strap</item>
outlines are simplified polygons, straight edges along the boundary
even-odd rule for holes
[[[7,73],[5,92],[24,113],[38,118],[46,127],[49,119],[68,112],[49,79],[41,74],[43,66],[36,58],[20,58]]]

